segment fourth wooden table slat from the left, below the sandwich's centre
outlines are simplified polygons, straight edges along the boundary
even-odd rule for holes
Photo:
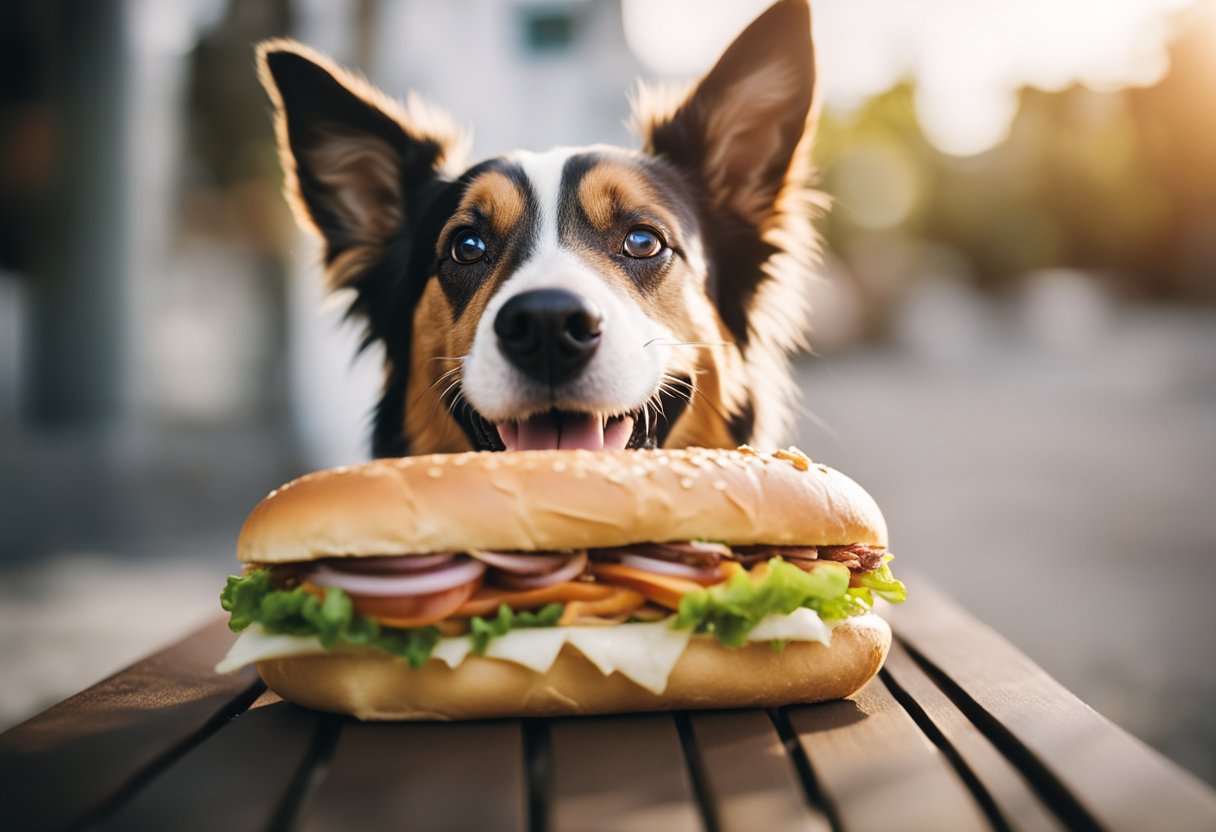
[[[670,714],[554,720],[550,826],[556,832],[702,828]]]

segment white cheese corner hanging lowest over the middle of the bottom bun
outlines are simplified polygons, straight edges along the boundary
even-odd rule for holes
[[[619,671],[652,693],[666,690],[689,630],[672,630],[669,620],[618,626],[570,626],[565,640],[587,657],[603,675]]]

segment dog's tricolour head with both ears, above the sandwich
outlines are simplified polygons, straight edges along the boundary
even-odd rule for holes
[[[642,90],[640,151],[465,168],[420,101],[291,41],[259,63],[288,195],[385,350],[376,455],[776,439],[815,252],[805,0],[687,95]]]

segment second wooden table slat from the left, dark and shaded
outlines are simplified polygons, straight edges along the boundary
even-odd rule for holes
[[[285,803],[326,718],[280,702],[248,710],[142,788],[101,830],[263,830]]]

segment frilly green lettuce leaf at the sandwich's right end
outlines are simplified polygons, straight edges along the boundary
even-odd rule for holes
[[[775,557],[762,575],[741,570],[721,584],[683,596],[672,626],[741,647],[769,615],[788,615],[806,607],[832,622],[869,611],[876,592],[888,601],[903,600],[903,584],[891,577],[885,563],[862,578],[862,586],[850,589],[849,579],[841,563],[823,562],[805,572]]]

